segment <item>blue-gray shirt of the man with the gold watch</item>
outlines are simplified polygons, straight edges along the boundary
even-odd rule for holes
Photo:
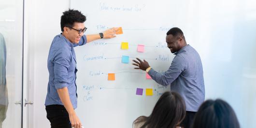
[[[178,92],[184,98],[186,111],[197,112],[205,97],[200,56],[190,45],[174,54],[176,56],[168,71],[162,74],[151,69],[148,74],[160,85],[171,84],[171,91]]]

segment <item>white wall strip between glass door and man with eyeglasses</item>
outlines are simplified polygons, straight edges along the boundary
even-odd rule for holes
[[[50,128],[44,107],[49,76],[47,57],[53,38],[61,32],[60,16],[69,7],[70,0],[25,0],[28,99],[34,101],[29,108],[29,127],[25,128]]]

